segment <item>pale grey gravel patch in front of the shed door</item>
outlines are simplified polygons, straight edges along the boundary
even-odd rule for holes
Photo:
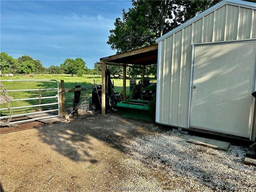
[[[221,151],[187,143],[188,138],[168,131],[130,140],[129,155],[120,160],[134,173],[125,185],[148,191],[256,191],[256,167],[243,164],[246,148]]]

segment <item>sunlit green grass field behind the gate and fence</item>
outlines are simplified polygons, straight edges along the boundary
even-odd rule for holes
[[[33,76],[24,76],[17,75],[14,77],[1,77],[0,80],[64,80],[64,86],[66,88],[74,88],[76,85],[80,86],[90,86],[94,85],[93,80],[95,80],[96,84],[101,84],[101,76],[97,75],[84,75],[82,77],[71,76],[71,75],[51,75],[51,74],[36,74]],[[116,92],[122,92],[122,79],[112,79],[114,80],[114,86]],[[1,82],[7,90],[18,90],[18,89],[43,89],[43,88],[57,88],[56,82]],[[60,85],[59,85],[60,86]],[[88,92],[91,92],[88,91]],[[129,80],[126,80],[126,94],[129,93]],[[25,92],[8,92],[9,96],[12,96],[13,99],[22,99],[22,98],[36,98],[39,97],[38,91],[25,91]],[[57,90],[54,91],[41,91],[41,96],[55,96],[57,94]],[[89,93],[90,94],[90,93]],[[1,93],[2,95],[2,93]],[[65,93],[65,104],[66,107],[71,107],[74,98],[74,92]],[[44,99],[41,100],[26,100],[26,101],[13,101],[11,102],[12,108],[19,106],[31,106],[36,104],[47,104],[52,102],[58,102],[57,98]],[[1,104],[1,108],[6,108],[6,104]],[[22,108],[22,109],[13,109],[13,114],[23,114],[27,112],[34,112],[38,110],[51,110],[56,109],[55,106],[42,106],[41,108],[33,107],[33,108]],[[1,111],[1,116],[8,115],[8,111]]]

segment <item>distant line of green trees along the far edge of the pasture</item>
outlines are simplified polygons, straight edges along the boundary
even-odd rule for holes
[[[127,67],[126,74],[133,78],[141,75],[141,66],[138,68]],[[110,66],[111,74],[116,78],[122,78],[122,66]],[[150,65],[146,68],[146,76],[153,75],[156,77],[157,65]],[[5,52],[0,53],[0,75],[1,74],[71,74],[71,76],[101,75],[101,63],[96,62],[93,69],[86,67],[86,63],[82,58],[70,59],[67,58],[60,66],[51,65],[46,68],[41,61],[28,55],[20,56],[14,59],[11,55]]]

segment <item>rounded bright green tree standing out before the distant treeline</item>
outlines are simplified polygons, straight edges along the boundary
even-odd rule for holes
[[[76,58],[75,60],[68,58],[60,64],[60,68],[65,74],[71,74],[71,76],[74,76],[75,74],[77,76],[82,76],[88,69],[85,65],[86,63],[82,58]]]

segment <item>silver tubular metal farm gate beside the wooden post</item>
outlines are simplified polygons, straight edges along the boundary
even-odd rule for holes
[[[0,80],[9,96],[10,106],[0,90],[0,121],[11,124],[60,116],[57,80]],[[10,113],[11,111],[11,113]]]

